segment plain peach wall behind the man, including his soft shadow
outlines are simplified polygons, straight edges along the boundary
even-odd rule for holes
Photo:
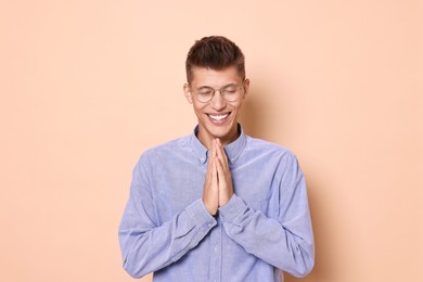
[[[307,177],[302,281],[423,281],[422,7],[0,1],[0,280],[132,281],[117,242],[132,167],[191,132],[185,54],[225,35],[247,60],[246,132]]]

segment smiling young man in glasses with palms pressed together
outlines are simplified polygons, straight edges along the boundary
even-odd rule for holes
[[[120,228],[124,268],[154,281],[283,281],[315,264],[296,157],[246,136],[244,55],[225,37],[195,42],[183,90],[198,125],[141,155]]]

